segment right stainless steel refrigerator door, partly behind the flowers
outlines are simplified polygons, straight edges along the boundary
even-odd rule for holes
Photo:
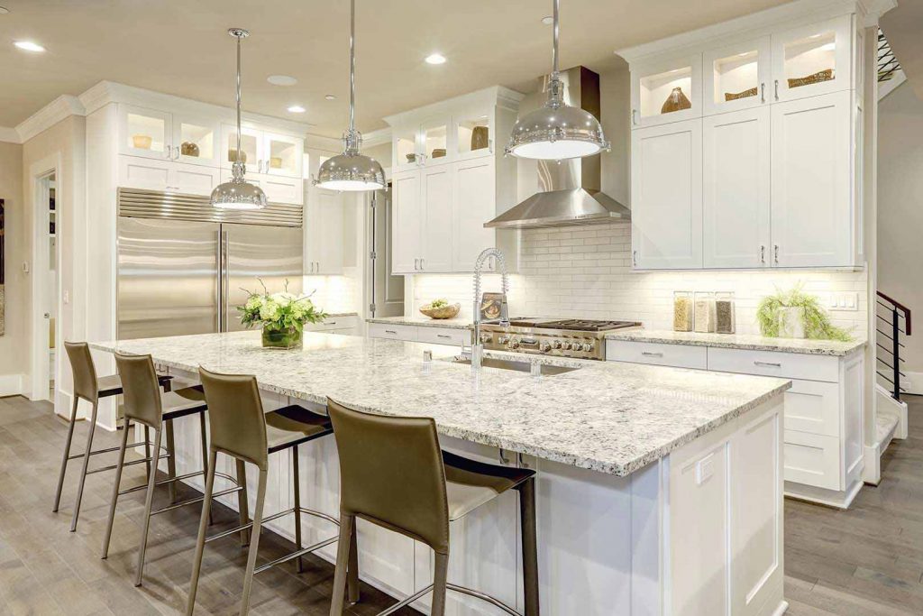
[[[284,291],[286,282],[289,293],[302,292],[302,246],[300,228],[222,224],[223,331],[245,329],[237,307],[248,291],[261,292],[262,284],[270,293]]]

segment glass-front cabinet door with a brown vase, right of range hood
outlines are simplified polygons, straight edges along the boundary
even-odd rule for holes
[[[632,66],[632,127],[701,115],[701,54]]]

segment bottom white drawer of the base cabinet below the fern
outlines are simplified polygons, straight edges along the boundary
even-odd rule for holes
[[[843,489],[840,468],[838,438],[785,430],[785,481]]]

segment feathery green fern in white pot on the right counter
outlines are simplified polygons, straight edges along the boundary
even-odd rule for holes
[[[850,332],[836,327],[817,296],[804,293],[802,284],[789,291],[763,297],[756,311],[760,332],[772,338],[811,338],[815,340],[852,339]]]

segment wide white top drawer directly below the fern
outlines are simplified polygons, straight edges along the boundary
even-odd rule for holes
[[[708,369],[765,377],[837,382],[840,360],[833,356],[709,347]]]

